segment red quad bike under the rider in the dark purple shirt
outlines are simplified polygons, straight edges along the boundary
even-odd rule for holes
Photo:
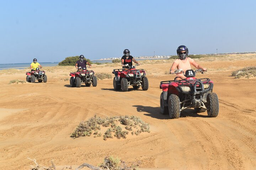
[[[81,70],[81,71],[79,71]],[[86,70],[86,68],[78,68],[77,72],[71,72],[70,77],[70,86],[71,87],[81,87],[82,83],[85,83],[86,87],[97,86],[97,78],[94,75],[93,70]]]

